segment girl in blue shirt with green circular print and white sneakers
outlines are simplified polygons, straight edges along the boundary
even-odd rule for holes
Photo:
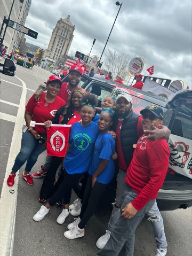
[[[86,94],[82,98],[81,117],[82,121],[75,123],[71,129],[68,152],[63,161],[62,177],[58,180],[60,184],[58,190],[49,198],[46,205],[42,205],[40,210],[34,215],[35,221],[41,221],[49,213],[50,207],[57,203],[63,197],[64,208],[57,218],[57,222],[62,224],[69,215],[69,203],[71,197],[71,188],[81,179],[87,170],[89,170],[94,143],[98,137],[99,129],[95,122],[94,106],[97,105],[97,98],[93,94]]]

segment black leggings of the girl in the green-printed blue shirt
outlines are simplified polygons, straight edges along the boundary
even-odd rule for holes
[[[75,186],[75,184],[81,179],[83,173],[76,174],[68,174],[65,169],[61,173],[59,177],[58,184],[55,187],[58,187],[57,191],[54,193],[52,197],[50,197],[49,204],[53,206],[58,201],[63,198],[63,204],[69,204],[71,198],[71,189]],[[61,182],[62,180],[62,182]]]

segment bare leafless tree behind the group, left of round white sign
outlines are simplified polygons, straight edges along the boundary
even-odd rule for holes
[[[108,48],[108,54],[103,61],[103,68],[111,71],[114,79],[116,79],[116,76],[120,75],[122,71],[128,71],[129,61],[129,55],[126,55],[124,52],[117,53]]]

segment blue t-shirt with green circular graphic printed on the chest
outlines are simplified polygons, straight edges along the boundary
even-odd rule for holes
[[[85,127],[81,122],[74,123],[69,137],[70,149],[63,160],[67,173],[85,173],[89,170],[98,133],[98,125],[95,122]]]

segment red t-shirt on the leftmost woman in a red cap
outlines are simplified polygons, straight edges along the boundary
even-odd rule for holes
[[[32,114],[32,120],[38,123],[44,123],[47,120],[53,120],[55,112],[65,105],[66,102],[60,97],[56,96],[54,102],[47,103],[45,99],[45,93],[36,102],[35,98],[30,97],[26,110]],[[47,105],[47,106],[46,106]],[[37,133],[46,133],[45,126],[35,126]]]

